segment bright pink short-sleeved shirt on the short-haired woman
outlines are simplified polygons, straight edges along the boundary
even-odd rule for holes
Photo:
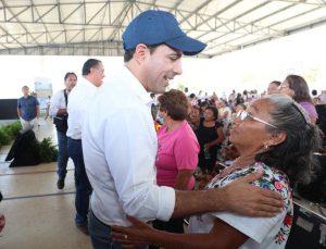
[[[156,155],[156,182],[159,186],[174,187],[179,170],[195,172],[198,164],[199,145],[197,137],[189,124],[184,121],[180,125],[166,133],[163,125],[158,132],[158,155]],[[191,176],[188,189],[195,186],[195,178]]]

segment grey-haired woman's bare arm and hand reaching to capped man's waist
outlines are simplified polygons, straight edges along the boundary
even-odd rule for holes
[[[239,248],[248,237],[216,219],[209,234],[173,234],[156,231],[135,217],[128,217],[131,227],[112,226],[115,241],[130,245],[155,245],[168,249],[233,249]]]

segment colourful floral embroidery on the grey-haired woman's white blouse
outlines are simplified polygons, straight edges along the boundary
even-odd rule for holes
[[[256,162],[253,165],[246,169],[236,169],[230,172],[227,176],[221,177],[216,175],[206,186],[206,188],[218,188],[223,187],[230,182],[236,180],[239,177],[243,177],[248,174],[256,172],[258,170],[264,170],[264,175],[262,178],[253,182],[255,186],[260,186],[265,189],[271,189],[279,192],[283,196],[285,202],[285,211],[287,212],[283,224],[275,235],[275,244],[285,244],[292,226],[293,220],[293,207],[292,207],[292,190],[290,188],[290,183],[287,175],[276,169],[268,167],[262,162]]]

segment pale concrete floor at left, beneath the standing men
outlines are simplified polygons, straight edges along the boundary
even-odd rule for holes
[[[57,134],[51,121],[36,130],[40,140]],[[10,146],[0,150],[0,213],[7,224],[0,234],[1,249],[92,248],[90,237],[75,227],[73,162],[68,161],[65,187],[57,189],[57,163],[9,167],[4,162]]]

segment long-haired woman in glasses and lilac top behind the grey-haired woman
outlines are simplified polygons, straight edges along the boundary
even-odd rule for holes
[[[310,122],[316,123],[318,114],[310,96],[309,86],[303,77],[299,75],[288,75],[280,85],[280,94],[290,96],[300,103],[309,114]]]

